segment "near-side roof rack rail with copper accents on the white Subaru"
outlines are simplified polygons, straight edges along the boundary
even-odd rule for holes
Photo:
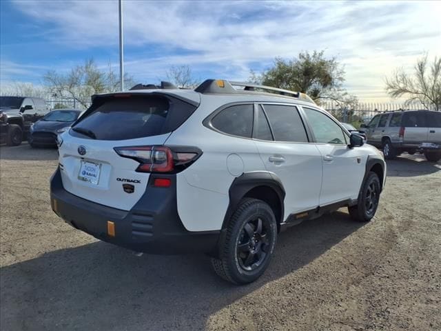
[[[236,90],[233,86],[241,86],[244,89]],[[223,79],[207,79],[195,89],[196,92],[200,93],[240,93],[243,91],[258,92],[258,90],[315,103],[314,100],[307,96],[307,94],[302,92],[294,92],[283,90],[283,88],[273,88],[272,86],[243,83],[239,81],[225,81]]]

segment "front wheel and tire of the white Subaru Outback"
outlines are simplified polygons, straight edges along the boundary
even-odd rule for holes
[[[357,205],[348,208],[352,219],[368,222],[375,215],[380,201],[381,184],[375,172],[369,172],[358,194]]]

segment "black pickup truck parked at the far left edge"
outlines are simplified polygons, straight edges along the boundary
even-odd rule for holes
[[[45,101],[29,97],[0,97],[0,141],[8,146],[21,144],[32,123],[48,114]]]

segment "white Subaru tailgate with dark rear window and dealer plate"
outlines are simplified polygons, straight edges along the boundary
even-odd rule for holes
[[[158,96],[94,100],[81,120],[61,134],[59,163],[65,190],[130,210],[144,194],[150,174],[136,172],[140,162],[120,157],[114,148],[163,145],[195,108]],[[150,157],[150,150],[146,148],[145,154]],[[133,185],[134,190],[127,192],[125,184]]]

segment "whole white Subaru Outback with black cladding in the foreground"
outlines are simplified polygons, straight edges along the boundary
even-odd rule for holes
[[[290,225],[343,206],[369,221],[385,179],[380,152],[305,94],[209,79],[92,97],[59,137],[50,192],[74,228],[137,252],[205,252],[242,284]]]

